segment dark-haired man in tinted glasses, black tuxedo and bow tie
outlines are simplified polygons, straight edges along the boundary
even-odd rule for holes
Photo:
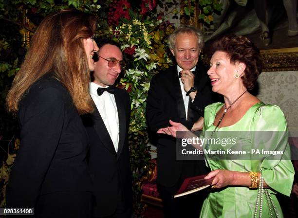
[[[89,135],[89,167],[94,182],[94,218],[129,218],[132,208],[128,148],[130,98],[112,85],[121,73],[122,52],[112,40],[100,40],[90,94],[96,108],[84,117]]]

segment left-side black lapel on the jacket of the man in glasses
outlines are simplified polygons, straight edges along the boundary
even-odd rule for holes
[[[94,121],[94,129],[98,135],[98,138],[112,154],[116,155],[115,147],[113,145],[108,129],[103,119],[101,118],[97,108],[94,109],[92,116]]]

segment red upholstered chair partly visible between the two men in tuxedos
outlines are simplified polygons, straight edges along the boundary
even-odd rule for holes
[[[157,160],[152,159],[149,164],[149,173],[141,185],[141,188],[143,190],[141,201],[144,203],[162,207],[162,200],[160,199],[160,195],[157,191],[156,178]]]

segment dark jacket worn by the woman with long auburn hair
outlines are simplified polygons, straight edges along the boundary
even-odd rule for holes
[[[24,94],[18,119],[20,145],[6,190],[7,207],[35,207],[41,195],[56,192],[91,195],[88,136],[69,91],[45,75]]]

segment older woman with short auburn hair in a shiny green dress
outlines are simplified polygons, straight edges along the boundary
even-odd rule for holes
[[[287,134],[287,123],[279,107],[266,105],[248,92],[254,88],[261,73],[260,51],[254,44],[244,36],[223,36],[214,42],[213,49],[208,75],[212,91],[222,94],[224,103],[205,108],[203,134],[206,131],[280,131]],[[197,122],[197,128],[200,122]],[[172,127],[160,129],[158,133],[176,137],[176,131],[187,130],[180,123],[170,121],[170,124]],[[242,144],[257,149],[258,137],[247,135]],[[275,137],[267,149],[278,148],[289,157],[287,135],[280,137],[277,134]],[[212,170],[205,179],[214,179],[213,190],[204,201],[200,217],[282,217],[276,195],[289,196],[291,193],[294,168],[290,160],[284,160],[282,156],[279,160],[269,160],[268,157],[262,160],[214,160],[208,155],[205,159]],[[263,194],[260,190],[264,190]],[[256,203],[260,204],[261,199],[260,213]]]

